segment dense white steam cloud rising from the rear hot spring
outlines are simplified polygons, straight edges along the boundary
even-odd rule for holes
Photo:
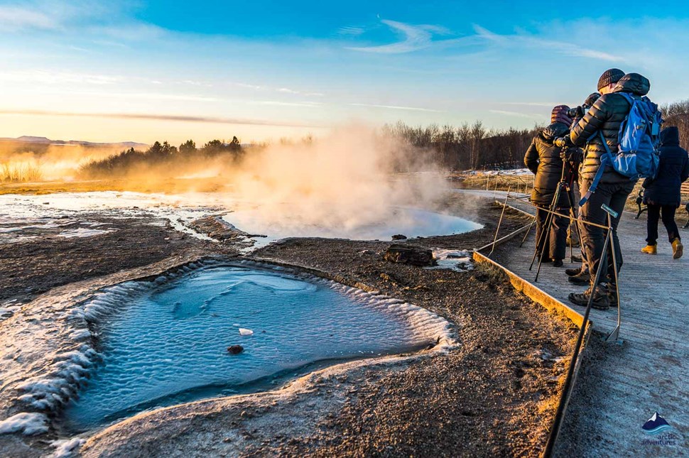
[[[413,148],[364,126],[249,153],[232,183],[240,202],[258,207],[252,225],[269,234],[313,226],[354,231],[400,218],[399,207],[428,209],[447,190]]]

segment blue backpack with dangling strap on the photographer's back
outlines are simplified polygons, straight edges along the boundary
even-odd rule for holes
[[[648,97],[635,99],[626,92],[617,92],[631,105],[629,114],[619,125],[617,134],[617,154],[614,155],[605,141],[602,131],[599,131],[605,153],[600,158],[600,167],[596,172],[591,187],[582,197],[579,205],[584,205],[603,175],[605,168],[611,167],[620,175],[636,178],[656,178],[658,174],[658,148],[660,147],[660,133],[663,118],[658,105]]]

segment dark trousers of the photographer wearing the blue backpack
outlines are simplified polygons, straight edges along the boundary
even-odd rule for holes
[[[615,261],[617,261],[617,271],[622,268],[622,250],[619,249],[619,239],[617,238],[617,226],[619,219],[622,217],[622,210],[624,210],[624,203],[634,190],[634,181],[622,183],[599,183],[590,199],[581,207],[581,219],[584,222],[592,222],[607,226],[607,212],[601,208],[602,205],[607,205],[617,212],[617,218],[612,218],[612,242],[615,250]],[[582,194],[585,194],[591,185],[590,180],[582,181]],[[601,227],[591,226],[590,224],[582,224],[582,243],[586,251],[586,260],[591,273],[591,283],[595,281],[595,275],[600,266],[603,249],[607,249],[605,244],[605,237],[607,236],[607,229]],[[607,253],[607,275],[600,276],[600,283],[614,281],[614,271],[612,262],[612,253],[608,250]]]

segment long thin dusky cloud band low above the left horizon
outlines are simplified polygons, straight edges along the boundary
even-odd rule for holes
[[[202,122],[212,124],[248,124],[251,126],[281,126],[281,127],[327,127],[325,124],[299,123],[292,121],[271,121],[268,119],[219,118],[213,116],[187,116],[173,114],[138,114],[138,113],[72,113],[69,111],[41,111],[41,110],[0,110],[0,115],[12,116],[67,116],[108,119],[139,119],[150,121],[182,121]]]

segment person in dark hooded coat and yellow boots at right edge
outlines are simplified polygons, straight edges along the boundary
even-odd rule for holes
[[[675,223],[675,211],[680,206],[680,186],[689,178],[689,156],[680,148],[680,134],[676,127],[661,132],[660,165],[655,179],[644,180],[644,204],[649,207],[648,245],[644,253],[656,254],[658,240],[658,218],[663,214],[663,224],[668,230],[672,244],[672,257],[682,257],[683,246]]]

